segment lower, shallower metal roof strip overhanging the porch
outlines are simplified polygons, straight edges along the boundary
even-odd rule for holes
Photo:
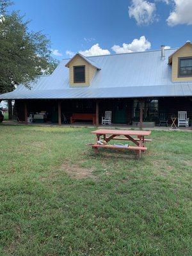
[[[1,99],[107,99],[133,97],[182,97],[192,95],[191,83],[163,86],[127,86],[111,88],[70,88],[64,90],[15,90],[1,95]]]

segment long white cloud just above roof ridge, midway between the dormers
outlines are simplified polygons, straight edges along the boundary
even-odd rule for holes
[[[145,36],[141,36],[140,39],[135,38],[132,40],[131,44],[113,45],[111,49],[116,53],[125,53],[125,52],[142,52],[150,49],[150,42],[147,41]]]

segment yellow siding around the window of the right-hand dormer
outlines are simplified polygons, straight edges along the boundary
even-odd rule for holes
[[[192,46],[187,44],[182,47],[178,52],[173,54],[172,58],[172,81],[192,81],[192,77],[178,77],[178,60],[182,57],[192,56]]]

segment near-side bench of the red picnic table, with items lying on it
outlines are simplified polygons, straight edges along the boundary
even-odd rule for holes
[[[115,145],[92,145],[92,148],[95,149],[95,153],[98,152],[98,148],[115,148],[115,149],[125,149],[125,150],[134,150],[138,157],[141,157],[141,151],[144,152],[147,150],[147,147],[134,147],[134,146],[129,146],[129,147],[121,147],[121,146],[115,146]]]

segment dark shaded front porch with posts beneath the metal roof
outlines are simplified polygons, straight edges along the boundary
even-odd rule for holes
[[[105,111],[112,113],[111,127],[154,128],[159,125],[160,113],[166,113],[168,125],[178,111],[187,111],[189,126],[192,118],[190,97],[161,97],[143,99],[67,99],[67,100],[15,100],[15,119],[28,124],[29,115],[45,113],[44,125],[71,125],[74,113],[93,114],[96,125],[101,124]],[[35,122],[38,124],[38,122]],[[76,120],[73,126],[92,127],[89,120]],[[168,127],[169,129],[169,127]]]

